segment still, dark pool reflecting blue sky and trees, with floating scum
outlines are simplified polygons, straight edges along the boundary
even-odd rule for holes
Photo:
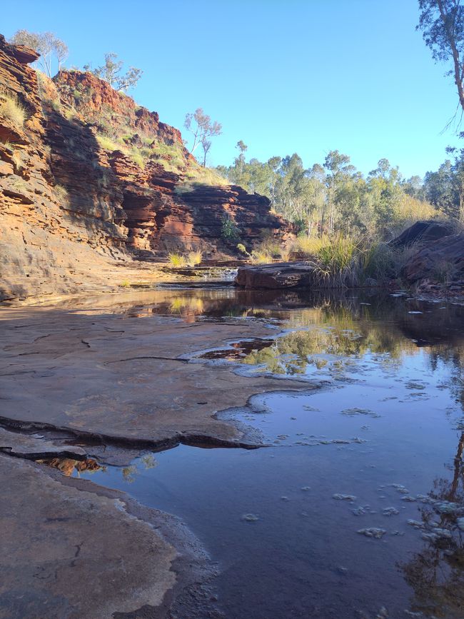
[[[275,339],[191,362],[301,390],[221,413],[266,447],[179,446],[73,473],[187,523],[218,563],[227,618],[464,617],[464,308],[198,289],[121,311],[272,324]]]

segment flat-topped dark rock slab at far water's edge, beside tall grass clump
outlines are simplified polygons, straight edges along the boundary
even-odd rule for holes
[[[314,269],[306,262],[242,266],[235,283],[242,288],[302,288],[313,283]]]

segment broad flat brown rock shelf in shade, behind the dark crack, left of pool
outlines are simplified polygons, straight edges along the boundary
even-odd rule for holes
[[[199,348],[274,332],[261,321],[41,309],[5,309],[2,318],[0,385],[7,406],[1,420],[10,426],[67,430],[126,446],[246,446],[243,432],[213,415],[246,405],[255,393],[298,388],[238,376],[231,366],[189,363]]]

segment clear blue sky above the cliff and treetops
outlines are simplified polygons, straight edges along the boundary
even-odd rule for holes
[[[136,101],[183,128],[202,107],[223,124],[211,165],[328,151],[367,173],[379,158],[405,176],[436,169],[453,130],[455,86],[415,31],[416,0],[21,0],[1,9],[0,32],[51,30],[66,64],[115,51],[143,69]]]

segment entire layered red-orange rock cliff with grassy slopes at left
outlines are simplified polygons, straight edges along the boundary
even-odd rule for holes
[[[93,74],[32,69],[0,35],[0,300],[114,281],[134,258],[236,253],[291,228],[267,198],[211,184],[180,132]]]

